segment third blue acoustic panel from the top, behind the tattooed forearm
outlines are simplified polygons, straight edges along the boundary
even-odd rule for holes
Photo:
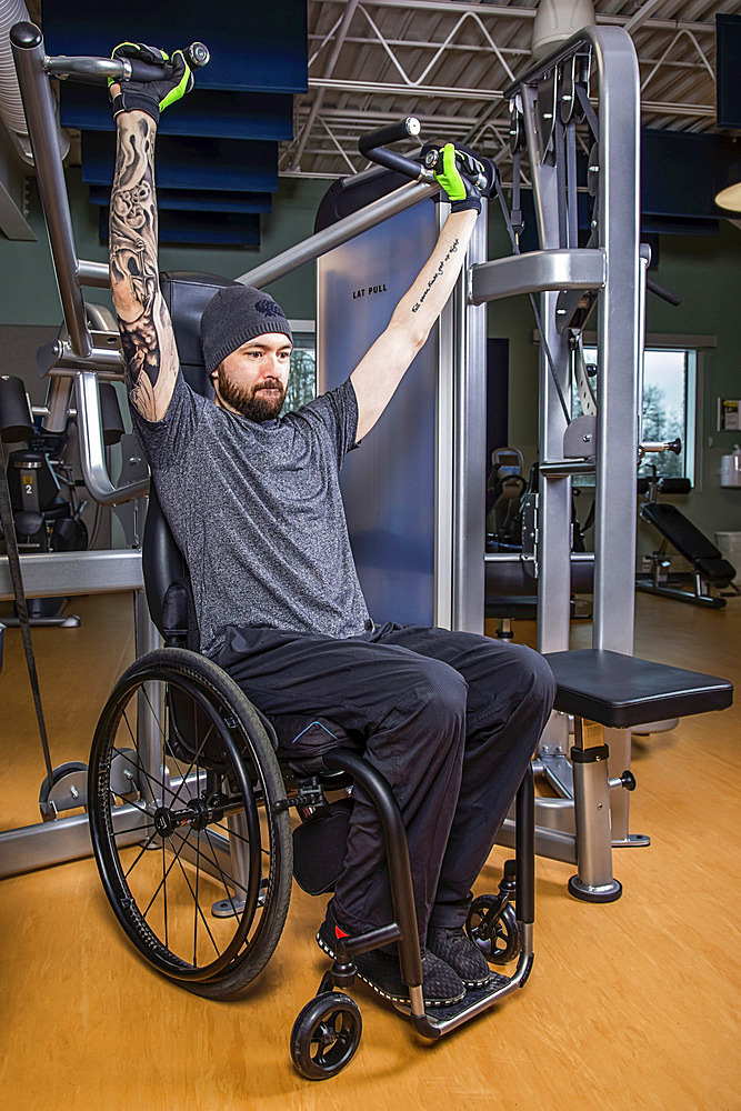
[[[83,181],[110,186],[114,158],[113,133],[82,132]],[[251,140],[161,136],[157,140],[157,184],[164,189],[274,193],[278,147]]]

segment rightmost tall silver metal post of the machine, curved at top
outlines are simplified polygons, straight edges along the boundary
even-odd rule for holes
[[[590,28],[599,81],[599,373],[592,647],[633,653],[635,482],[641,351],[640,96],[635,49],[619,28]],[[615,474],[620,482],[615,482]],[[615,552],[620,558],[615,559]]]

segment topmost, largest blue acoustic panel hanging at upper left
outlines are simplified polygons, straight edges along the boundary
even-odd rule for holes
[[[129,0],[44,0],[47,53],[109,57],[119,42],[149,42],[173,50],[204,42],[211,61],[198,74],[203,89],[306,92],[306,0],[268,3],[178,4]]]

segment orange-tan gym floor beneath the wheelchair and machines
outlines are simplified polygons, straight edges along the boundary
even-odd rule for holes
[[[720,612],[639,594],[637,655],[741,684],[741,598]],[[34,632],[54,764],[87,760],[108,691],[132,655],[124,595],[73,599],[77,630]],[[533,625],[515,624],[532,643]],[[587,622],[573,643],[588,647]],[[42,759],[17,630],[0,673],[0,828],[38,821]],[[622,899],[580,903],[573,871],[538,861],[527,988],[431,1045],[358,991],[363,1038],[340,1077],[292,1070],[293,1019],[326,960],[323,901],[294,889],[281,943],[251,994],[212,1003],[136,957],[91,859],[0,882],[0,1091],[8,1108],[130,1111],[739,1111],[741,701],[635,739],[634,832],[614,853]],[[478,890],[495,890],[495,849]]]

